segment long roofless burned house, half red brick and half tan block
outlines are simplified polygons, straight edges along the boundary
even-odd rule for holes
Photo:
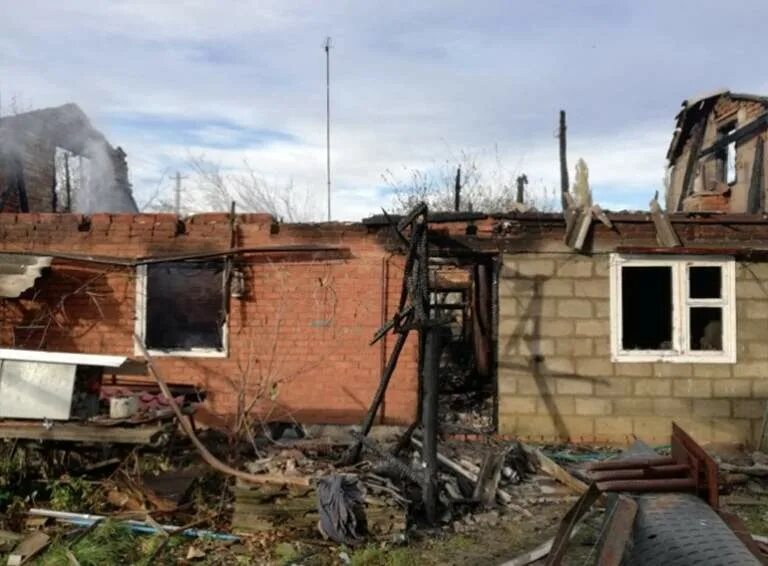
[[[728,93],[686,104],[668,213],[654,201],[428,216],[444,432],[666,442],[674,420],[698,441],[765,440],[763,105]],[[403,304],[407,246],[391,222],[0,214],[3,257],[51,258],[0,303],[0,340],[140,359],[138,337],[211,412],[305,423],[359,423],[398,351],[375,420],[409,425],[418,341],[371,344]]]

